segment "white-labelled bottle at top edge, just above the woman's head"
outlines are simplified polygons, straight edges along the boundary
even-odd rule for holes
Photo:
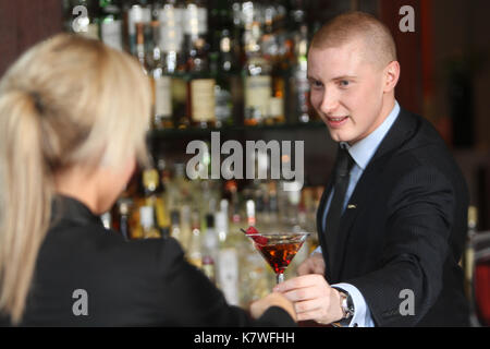
[[[99,35],[103,44],[123,50],[121,0],[99,0]]]

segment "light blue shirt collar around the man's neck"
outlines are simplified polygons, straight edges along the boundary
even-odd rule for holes
[[[369,164],[369,160],[371,159],[372,155],[375,155],[376,151],[381,144],[381,141],[387,135],[388,131],[390,131],[390,128],[396,120],[399,113],[400,113],[400,105],[395,100],[395,105],[391,110],[391,112],[388,115],[387,119],[384,119],[384,121],[375,131],[368,134],[367,137],[360,140],[359,142],[355,143],[352,146],[348,145],[347,142],[341,142],[341,146],[348,151],[348,154],[351,154],[354,161],[357,164],[358,167],[360,167],[363,171]]]

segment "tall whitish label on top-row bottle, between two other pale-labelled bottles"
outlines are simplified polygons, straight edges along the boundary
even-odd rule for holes
[[[182,21],[184,10],[172,5],[166,5],[158,14],[160,21],[160,48],[163,52],[181,50],[184,33],[182,31]]]

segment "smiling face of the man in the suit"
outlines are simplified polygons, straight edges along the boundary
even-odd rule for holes
[[[383,69],[365,59],[358,41],[310,48],[311,105],[335,142],[352,145],[382,123],[383,75]]]

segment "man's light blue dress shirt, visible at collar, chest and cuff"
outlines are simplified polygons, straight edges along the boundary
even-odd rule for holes
[[[400,113],[400,105],[395,100],[395,105],[393,109],[391,110],[390,115],[387,119],[375,130],[372,131],[367,137],[358,141],[354,145],[350,146],[345,142],[341,142],[341,146],[346,148],[348,151],[348,154],[354,159],[355,164],[351,170],[351,177],[348,181],[347,191],[345,193],[345,201],[344,201],[344,207],[348,203],[348,200],[351,198],[352,193],[354,192],[354,189],[356,188],[356,184],[363,174],[364,170],[368,166],[369,161],[371,160],[372,156],[375,155],[376,151],[378,149],[379,145],[381,144],[382,140],[387,135],[388,131],[392,127],[393,122],[395,122],[397,116]],[[333,188],[332,191],[328,197],[327,201],[327,209],[324,210],[324,216],[321,221],[326,221],[327,214],[330,208],[330,202],[333,197]],[[321,253],[321,248],[315,250],[314,253],[319,252]],[[359,327],[375,327],[375,322],[371,317],[371,312],[369,311],[369,308],[366,304],[366,300],[364,299],[360,291],[353,285],[341,282],[331,285],[332,287],[338,287],[351,294],[351,298],[354,303],[355,313],[354,316],[351,318],[351,321],[347,323],[343,323],[344,325],[348,325],[350,327],[353,326],[359,326]]]

